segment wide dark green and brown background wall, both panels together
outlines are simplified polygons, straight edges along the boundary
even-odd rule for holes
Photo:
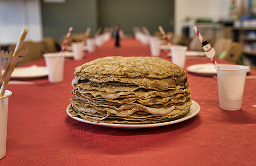
[[[128,35],[133,35],[133,26],[146,26],[150,33],[157,30],[158,25],[166,31],[173,31],[173,7],[174,0],[42,1],[43,33],[44,36],[60,38],[72,26],[73,33],[83,33],[91,27],[94,34],[98,27],[114,27],[116,23]]]

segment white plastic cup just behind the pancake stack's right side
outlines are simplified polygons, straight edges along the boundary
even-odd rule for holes
[[[185,67],[185,53],[187,51],[187,46],[182,45],[172,45],[170,46],[170,51],[172,54],[172,62],[182,68]]]

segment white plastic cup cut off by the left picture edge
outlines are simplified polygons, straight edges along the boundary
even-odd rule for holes
[[[0,97],[0,159],[6,155],[8,99],[11,95],[12,92],[6,90]]]

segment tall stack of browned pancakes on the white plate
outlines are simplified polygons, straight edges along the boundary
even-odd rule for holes
[[[192,105],[186,71],[161,58],[108,56],[76,68],[72,116],[92,122],[177,120]]]

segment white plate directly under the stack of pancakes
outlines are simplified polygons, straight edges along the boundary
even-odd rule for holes
[[[188,120],[189,118],[192,118],[195,115],[197,115],[198,112],[200,111],[200,106],[198,105],[198,103],[192,100],[192,106],[190,107],[190,110],[189,110],[188,114],[186,116],[184,116],[183,118],[180,118],[178,120],[163,122],[163,123],[145,124],[145,125],[123,125],[123,124],[102,123],[102,122],[97,123],[97,122],[86,121],[86,120],[83,120],[83,119],[78,118],[78,117],[73,117],[71,115],[71,113],[68,112],[70,106],[71,105],[68,105],[66,111],[68,113],[68,116],[70,116],[74,120],[84,122],[84,123],[93,124],[93,125],[107,126],[107,127],[113,127],[113,128],[149,128],[149,127],[159,127],[159,126],[172,125],[174,123],[178,123],[178,122]]]

